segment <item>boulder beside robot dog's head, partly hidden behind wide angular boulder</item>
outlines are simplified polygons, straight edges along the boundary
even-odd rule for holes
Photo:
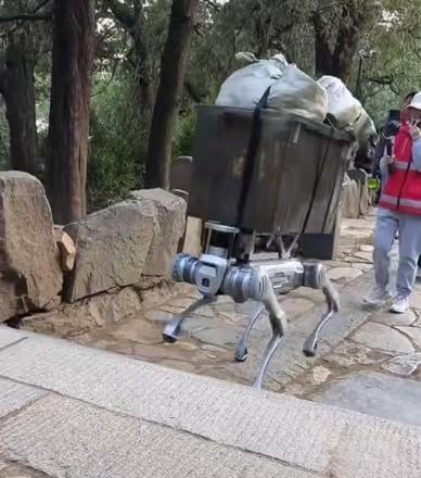
[[[165,276],[177,253],[186,227],[186,201],[163,189],[144,189],[131,192],[131,198],[152,209],[154,216],[153,240],[143,274]]]

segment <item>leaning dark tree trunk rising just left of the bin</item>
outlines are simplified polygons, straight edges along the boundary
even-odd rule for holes
[[[146,187],[169,188],[173,137],[180,108],[199,0],[173,0],[149,138]]]

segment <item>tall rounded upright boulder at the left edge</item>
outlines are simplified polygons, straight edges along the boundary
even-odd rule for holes
[[[0,322],[54,307],[62,281],[41,183],[26,173],[0,173]]]

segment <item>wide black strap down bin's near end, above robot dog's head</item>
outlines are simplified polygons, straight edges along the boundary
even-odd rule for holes
[[[243,174],[243,181],[241,185],[239,207],[237,211],[237,225],[238,226],[243,225],[242,223],[244,219],[244,212],[245,212],[245,207],[247,204],[250,187],[251,187],[252,179],[253,179],[256,156],[257,156],[257,152],[258,152],[258,147],[260,144],[261,110],[267,108],[269,95],[270,95],[270,87],[265,91],[264,96],[260,98],[260,100],[257,103],[257,106],[253,113],[252,129],[250,133],[247,154],[245,156],[245,167],[244,167],[244,174]]]

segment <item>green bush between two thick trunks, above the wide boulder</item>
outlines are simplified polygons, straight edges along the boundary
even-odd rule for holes
[[[94,91],[101,88],[104,80],[97,80]],[[106,207],[142,186],[148,121],[140,113],[136,87],[123,75],[93,97],[87,187],[90,211]]]

